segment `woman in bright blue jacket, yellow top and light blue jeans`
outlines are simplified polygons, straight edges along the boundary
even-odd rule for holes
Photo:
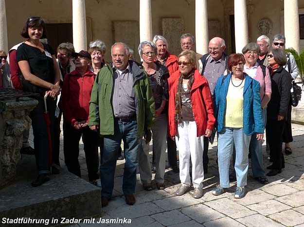
[[[244,64],[241,53],[230,55],[228,69],[232,73],[218,78],[214,90],[220,177],[220,184],[212,192],[214,195],[220,195],[230,187],[229,165],[234,145],[237,179],[234,198],[245,196],[250,138],[253,135],[262,140],[264,136],[260,84],[243,72]]]

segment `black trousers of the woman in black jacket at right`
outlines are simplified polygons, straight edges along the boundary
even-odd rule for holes
[[[285,161],[282,152],[285,121],[285,119],[278,121],[267,112],[266,137],[270,149],[270,158],[273,161],[273,169],[278,170],[285,168]]]

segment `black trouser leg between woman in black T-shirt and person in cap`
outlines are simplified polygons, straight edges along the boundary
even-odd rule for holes
[[[60,166],[59,162],[59,150],[60,150],[60,122],[62,117],[62,110],[59,112],[58,118],[54,118],[54,140],[53,140],[53,153],[52,162]]]

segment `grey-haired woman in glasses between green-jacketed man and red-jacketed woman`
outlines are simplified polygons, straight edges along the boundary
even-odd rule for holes
[[[166,161],[167,137],[167,101],[169,99],[169,72],[159,62],[155,62],[157,48],[153,42],[141,42],[138,52],[143,59],[143,67],[147,72],[149,84],[155,101],[155,123],[152,127],[153,153],[155,155],[155,181],[159,190],[164,189],[164,173]],[[148,129],[146,129],[148,130]],[[140,152],[139,170],[144,190],[152,190],[152,171],[149,160],[149,140],[143,141],[143,151]]]

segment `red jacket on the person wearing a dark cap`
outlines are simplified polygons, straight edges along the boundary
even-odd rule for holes
[[[61,90],[62,112],[72,126],[79,121],[89,120],[89,100],[95,80],[95,73],[88,68],[81,76],[76,70],[68,73]]]

